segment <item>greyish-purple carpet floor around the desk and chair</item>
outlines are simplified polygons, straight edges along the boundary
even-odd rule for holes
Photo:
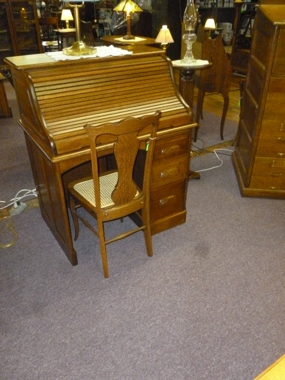
[[[33,180],[21,130],[7,151],[2,125],[7,200]],[[218,126],[208,133],[218,139]],[[108,246],[108,279],[89,230],[72,267],[37,207],[13,217],[17,240],[0,249],[1,380],[251,380],[285,352],[285,203],[242,197],[223,153],[189,181],[186,223],[153,236],[153,257],[139,233]],[[191,167],[219,164],[208,153]]]

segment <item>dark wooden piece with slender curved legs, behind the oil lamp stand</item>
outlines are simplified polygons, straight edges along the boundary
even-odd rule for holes
[[[207,31],[204,31],[201,59],[206,59],[211,63],[210,68],[200,70],[198,84],[198,94],[196,103],[196,122],[203,118],[202,108],[204,95],[206,92],[218,92],[223,97],[223,110],[220,121],[220,138],[223,140],[223,125],[228,109],[228,91],[232,74],[229,59],[224,50],[221,33],[212,39]],[[198,127],[194,130],[194,141],[197,139]]]

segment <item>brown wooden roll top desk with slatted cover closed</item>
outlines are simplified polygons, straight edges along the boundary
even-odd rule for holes
[[[132,54],[55,61],[46,54],[5,59],[43,219],[70,262],[77,264],[66,204],[66,184],[90,172],[83,126],[162,112],[151,184],[151,232],[185,221],[192,122],[177,91],[171,61],[161,49],[125,46]],[[145,143],[148,130],[141,134]],[[111,144],[102,142],[102,156]]]

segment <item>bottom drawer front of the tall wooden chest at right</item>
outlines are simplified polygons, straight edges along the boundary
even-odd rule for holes
[[[250,187],[285,190],[285,159],[256,157]]]

